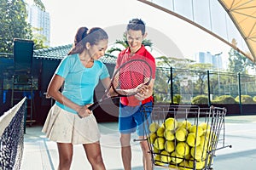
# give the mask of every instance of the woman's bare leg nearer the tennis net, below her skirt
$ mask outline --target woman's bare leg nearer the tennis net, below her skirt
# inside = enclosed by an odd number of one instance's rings
[[[73,144],[57,143],[59,151],[58,170],[69,170],[73,157]]]

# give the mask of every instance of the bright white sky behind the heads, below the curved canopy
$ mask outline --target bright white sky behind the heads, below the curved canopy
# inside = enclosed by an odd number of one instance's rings
[[[50,46],[67,45],[80,26],[99,26],[109,45],[122,39],[132,18],[142,19],[157,55],[193,59],[197,52],[228,56],[230,46],[201,29],[137,0],[42,0],[50,16]]]

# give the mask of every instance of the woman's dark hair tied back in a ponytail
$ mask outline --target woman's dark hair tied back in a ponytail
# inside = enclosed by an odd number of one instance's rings
[[[95,45],[101,40],[108,39],[108,34],[100,27],[93,27],[89,31],[86,27],[80,27],[74,38],[73,48],[68,54],[80,54],[84,51],[87,42],[90,45]]]

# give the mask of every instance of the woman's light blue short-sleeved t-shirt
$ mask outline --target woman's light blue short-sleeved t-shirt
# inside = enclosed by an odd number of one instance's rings
[[[79,54],[68,55],[62,59],[55,74],[65,79],[62,94],[78,105],[93,103],[94,89],[99,79],[109,77],[107,66],[102,61],[95,60],[91,68],[85,68],[79,59]],[[56,105],[66,111],[77,113],[57,101]]]

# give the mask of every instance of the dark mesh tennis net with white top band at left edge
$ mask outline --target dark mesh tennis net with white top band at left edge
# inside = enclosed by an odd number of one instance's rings
[[[0,170],[20,169],[26,98],[0,117]]]

